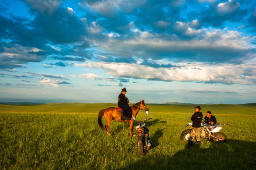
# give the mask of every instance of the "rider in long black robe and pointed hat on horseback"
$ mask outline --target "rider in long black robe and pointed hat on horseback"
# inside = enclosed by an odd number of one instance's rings
[[[122,92],[119,94],[118,96],[118,107],[121,108],[123,110],[123,114],[127,117],[127,118],[131,118],[131,108],[128,105],[128,98],[125,96],[126,93],[126,88],[122,89]]]

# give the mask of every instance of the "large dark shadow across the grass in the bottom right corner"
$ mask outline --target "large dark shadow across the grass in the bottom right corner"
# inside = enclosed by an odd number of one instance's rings
[[[229,139],[225,144],[201,145],[193,143],[172,156],[165,154],[146,155],[121,170],[149,167],[152,170],[210,169],[210,170],[255,170],[256,142]]]

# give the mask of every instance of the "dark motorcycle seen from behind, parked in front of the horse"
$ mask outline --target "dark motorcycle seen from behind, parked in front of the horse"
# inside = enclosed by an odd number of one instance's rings
[[[152,118],[149,118],[152,119]],[[134,136],[138,137],[138,144],[137,147],[139,149],[140,155],[145,155],[146,151],[151,148],[152,141],[149,138],[149,129],[146,127],[146,121],[149,119],[145,119],[142,122],[138,122],[136,126],[136,134]]]

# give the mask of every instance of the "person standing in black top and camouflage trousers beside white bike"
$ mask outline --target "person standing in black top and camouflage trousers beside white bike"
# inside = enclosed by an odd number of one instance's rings
[[[188,146],[192,146],[192,142],[194,138],[196,137],[197,144],[200,146],[201,145],[201,139],[200,139],[200,131],[201,131],[201,122],[202,122],[202,113],[200,112],[201,107],[196,106],[195,107],[195,113],[191,117],[192,122],[192,131],[189,137],[189,144]]]

